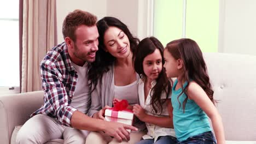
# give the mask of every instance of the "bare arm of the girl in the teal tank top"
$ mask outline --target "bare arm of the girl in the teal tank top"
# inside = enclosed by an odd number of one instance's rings
[[[187,94],[188,98],[194,100],[195,103],[199,105],[206,115],[211,119],[217,143],[225,143],[222,117],[220,117],[217,108],[214,106],[210,98],[208,98],[205,91],[203,91],[203,89],[196,82],[190,82]]]

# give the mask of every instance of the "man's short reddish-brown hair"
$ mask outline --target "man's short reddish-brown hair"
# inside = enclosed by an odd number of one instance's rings
[[[75,30],[80,25],[85,25],[88,27],[96,25],[97,17],[87,11],[76,9],[69,13],[62,25],[63,38],[71,38],[73,41],[76,40]]]

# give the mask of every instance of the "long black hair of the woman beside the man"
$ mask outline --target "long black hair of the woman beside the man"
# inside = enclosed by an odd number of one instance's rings
[[[98,33],[100,34],[100,37],[98,37],[98,51],[96,52],[95,61],[89,65],[88,71],[88,79],[90,81],[89,86],[92,87],[92,84],[94,84],[92,91],[94,91],[98,79],[102,79],[103,73],[106,73],[109,70],[108,67],[112,65],[116,59],[109,52],[104,51],[104,34],[107,29],[109,27],[117,27],[121,29],[121,31],[123,31],[129,39],[132,53],[135,53],[136,46],[139,43],[139,39],[133,37],[127,26],[115,17],[103,17],[96,23],[96,25],[98,28]]]

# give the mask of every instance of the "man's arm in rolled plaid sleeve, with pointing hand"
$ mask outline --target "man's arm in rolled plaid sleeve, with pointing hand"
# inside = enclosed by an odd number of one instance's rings
[[[68,94],[62,83],[62,74],[56,65],[50,61],[41,64],[43,88],[46,93],[46,101],[49,103],[50,111],[55,114],[57,120],[64,125],[82,130],[104,131],[114,136],[118,141],[130,140],[126,129],[137,130],[131,125],[116,122],[107,122],[101,119],[91,118],[84,113],[68,105]]]

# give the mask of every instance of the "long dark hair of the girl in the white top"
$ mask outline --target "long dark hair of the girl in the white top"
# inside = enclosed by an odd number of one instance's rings
[[[137,51],[134,59],[134,67],[135,71],[139,74],[139,76],[147,77],[143,70],[143,61],[144,58],[151,53],[153,53],[156,49],[159,49],[162,57],[162,71],[160,72],[158,78],[156,79],[156,84],[152,88],[150,92],[150,105],[153,107],[153,113],[157,113],[160,110],[162,112],[162,105],[165,104],[168,95],[171,93],[171,85],[172,81],[167,79],[165,68],[163,67],[164,61],[164,46],[160,43],[158,39],[155,37],[149,37],[143,39],[137,46]],[[165,100],[161,100],[162,94],[166,95]]]

